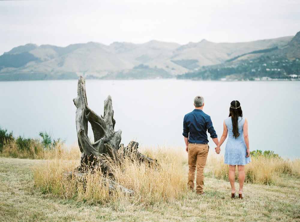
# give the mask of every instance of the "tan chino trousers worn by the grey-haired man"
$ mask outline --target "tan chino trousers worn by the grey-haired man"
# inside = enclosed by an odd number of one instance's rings
[[[191,190],[194,189],[195,170],[197,167],[196,176],[196,192],[198,194],[203,193],[204,186],[204,167],[208,155],[208,144],[188,144],[188,184]]]

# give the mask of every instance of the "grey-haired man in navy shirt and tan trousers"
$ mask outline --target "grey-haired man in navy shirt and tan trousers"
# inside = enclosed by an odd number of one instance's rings
[[[197,166],[196,192],[197,194],[203,194],[203,169],[209,150],[206,130],[210,133],[210,137],[216,145],[218,145],[219,140],[212,126],[210,116],[202,111],[204,98],[196,96],[194,106],[195,109],[184,116],[182,135],[184,136],[186,151],[188,153],[188,186],[190,190],[194,190],[195,170]],[[220,148],[216,147],[215,150],[217,154],[220,153]]]

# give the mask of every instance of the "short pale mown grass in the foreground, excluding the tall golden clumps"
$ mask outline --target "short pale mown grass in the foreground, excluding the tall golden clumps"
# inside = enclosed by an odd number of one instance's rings
[[[210,155],[206,195],[182,190],[176,191],[175,198],[169,195],[146,204],[140,194],[115,204],[55,195],[39,187],[34,178],[36,169],[46,172],[49,169],[41,167],[53,160],[0,157],[0,221],[300,221],[298,176],[280,173],[268,184],[245,183],[244,199],[231,199],[229,182],[216,178],[216,160]],[[186,161],[180,165],[185,178]]]

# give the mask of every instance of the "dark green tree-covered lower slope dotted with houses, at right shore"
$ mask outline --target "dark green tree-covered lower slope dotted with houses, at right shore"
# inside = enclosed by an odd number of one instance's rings
[[[286,56],[260,56],[222,65],[208,66],[198,71],[180,75],[179,79],[193,80],[271,80],[298,79],[299,59],[288,60]]]

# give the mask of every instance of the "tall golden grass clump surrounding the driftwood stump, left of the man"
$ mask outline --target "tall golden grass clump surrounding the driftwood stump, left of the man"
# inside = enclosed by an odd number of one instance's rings
[[[154,150],[145,148],[149,156],[158,160],[160,169],[132,162],[126,158],[121,166],[111,165],[116,182],[134,190],[134,196],[123,195],[120,190],[109,193],[106,178],[98,173],[89,173],[85,184],[76,178],[67,178],[65,171],[73,171],[79,159],[73,160],[61,155],[60,158],[44,160],[33,169],[35,185],[44,193],[52,193],[63,198],[88,201],[101,205],[109,204],[115,209],[122,205],[141,205],[145,207],[174,201],[187,195],[187,158],[179,147]]]

